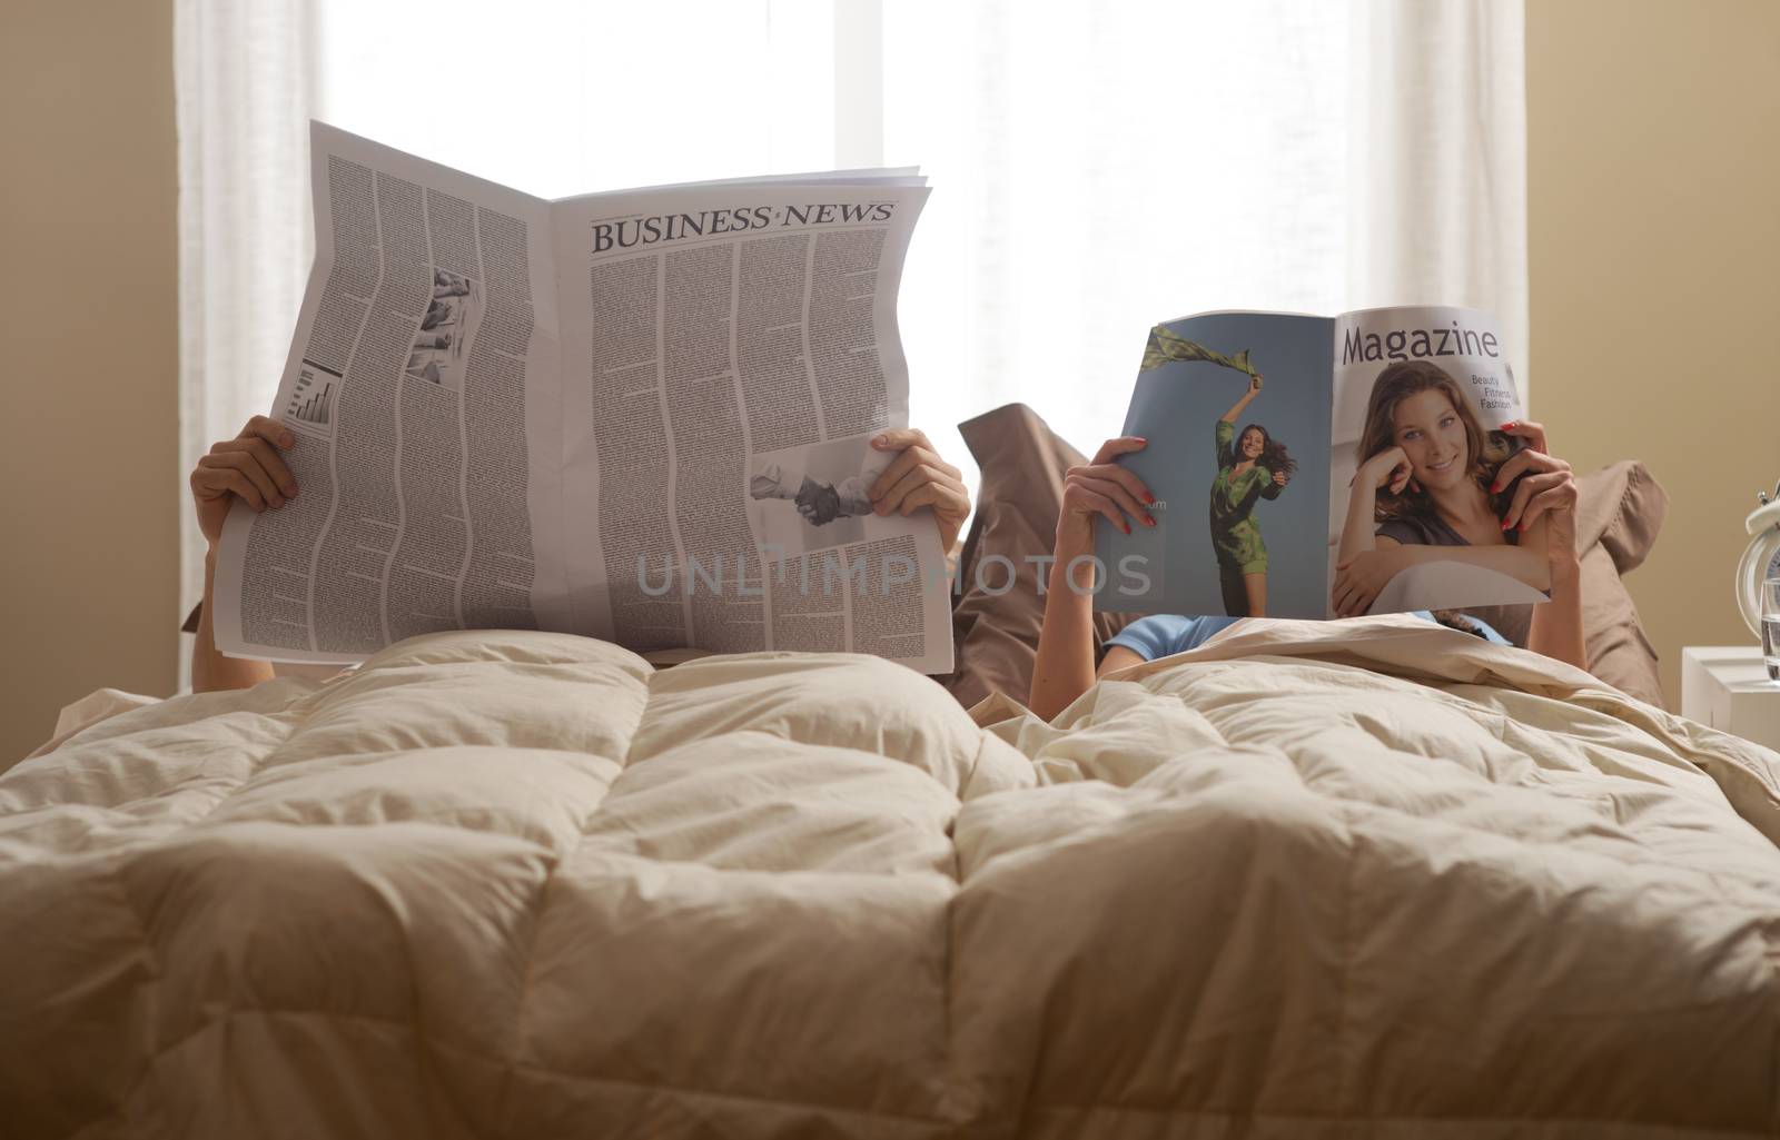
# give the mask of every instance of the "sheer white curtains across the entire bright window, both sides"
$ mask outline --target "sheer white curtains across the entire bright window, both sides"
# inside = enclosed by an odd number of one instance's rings
[[[543,196],[922,164],[911,416],[967,471],[1007,400],[1091,450],[1198,309],[1474,304],[1527,375],[1520,0],[176,4],[187,457],[276,388],[308,116]]]

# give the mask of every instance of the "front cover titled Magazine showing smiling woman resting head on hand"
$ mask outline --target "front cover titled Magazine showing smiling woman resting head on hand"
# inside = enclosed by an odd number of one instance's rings
[[[1392,308],[1335,320],[1328,614],[1545,601],[1540,534],[1502,532],[1492,494],[1524,418],[1490,313]],[[1527,537],[1527,546],[1520,539]]]

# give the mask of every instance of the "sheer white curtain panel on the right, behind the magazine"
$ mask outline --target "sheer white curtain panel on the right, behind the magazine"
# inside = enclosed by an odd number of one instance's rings
[[[899,0],[883,44],[885,158],[936,187],[918,423],[1024,400],[1091,452],[1202,309],[1472,304],[1527,375],[1518,0]]]

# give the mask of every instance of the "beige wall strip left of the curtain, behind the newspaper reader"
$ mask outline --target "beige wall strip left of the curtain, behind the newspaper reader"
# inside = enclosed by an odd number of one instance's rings
[[[0,768],[174,685],[173,5],[0,5]]]

